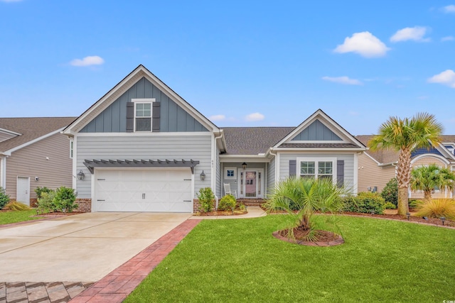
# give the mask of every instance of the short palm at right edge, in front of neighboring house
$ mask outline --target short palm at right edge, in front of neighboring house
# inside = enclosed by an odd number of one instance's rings
[[[439,167],[436,164],[414,167],[411,172],[411,189],[422,190],[424,199],[432,198],[435,187],[441,190],[454,189],[455,174],[448,168]]]

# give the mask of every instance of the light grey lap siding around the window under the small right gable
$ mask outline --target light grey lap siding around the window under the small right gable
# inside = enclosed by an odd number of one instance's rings
[[[280,153],[279,154],[279,178],[285,179],[289,177],[289,160],[296,160],[296,158],[309,157],[309,158],[336,158],[337,160],[344,160],[344,184],[346,187],[351,188],[354,185],[354,155],[352,154],[318,154],[318,153]],[[355,167],[357,168],[357,167]],[[297,174],[299,174],[299,165],[297,165]]]

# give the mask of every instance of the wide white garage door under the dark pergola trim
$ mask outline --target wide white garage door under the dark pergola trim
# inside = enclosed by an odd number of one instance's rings
[[[94,211],[192,212],[191,170],[95,170]]]

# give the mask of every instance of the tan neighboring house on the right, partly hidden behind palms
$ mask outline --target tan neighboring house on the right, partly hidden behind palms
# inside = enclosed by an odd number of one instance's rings
[[[373,136],[355,136],[364,145],[368,144]],[[412,167],[435,163],[441,167],[447,167],[455,171],[455,136],[441,136],[442,143],[437,148],[419,148],[411,155]],[[381,192],[385,184],[395,177],[395,165],[397,165],[399,153],[395,150],[365,150],[358,156],[358,191]],[[422,191],[409,191],[412,199],[422,199]],[[451,198],[454,192],[439,191],[435,189],[432,197]]]

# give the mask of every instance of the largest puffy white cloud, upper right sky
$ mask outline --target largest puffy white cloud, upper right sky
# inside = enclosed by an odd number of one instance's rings
[[[376,38],[372,33],[364,31],[353,33],[352,37],[346,37],[344,43],[338,45],[335,53],[358,53],[363,57],[382,57],[387,53],[387,45]]]

